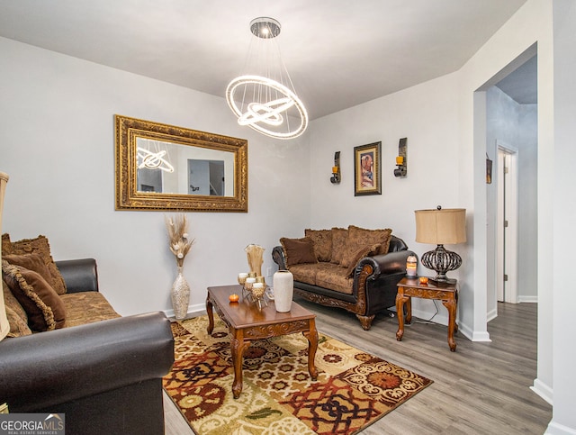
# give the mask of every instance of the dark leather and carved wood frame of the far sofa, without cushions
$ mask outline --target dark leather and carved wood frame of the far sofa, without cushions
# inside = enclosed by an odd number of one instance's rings
[[[343,308],[355,313],[362,328],[370,329],[376,313],[395,315],[389,308],[396,304],[397,284],[406,275],[406,258],[415,255],[403,240],[392,236],[387,254],[365,257],[354,270],[352,294],[311,285],[294,278],[294,294],[316,304]],[[279,269],[287,269],[282,246],[276,246],[272,258]]]

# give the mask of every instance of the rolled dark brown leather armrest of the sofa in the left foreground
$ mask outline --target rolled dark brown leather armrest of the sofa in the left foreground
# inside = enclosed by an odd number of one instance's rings
[[[174,338],[145,313],[0,341],[0,403],[34,412],[165,376]]]

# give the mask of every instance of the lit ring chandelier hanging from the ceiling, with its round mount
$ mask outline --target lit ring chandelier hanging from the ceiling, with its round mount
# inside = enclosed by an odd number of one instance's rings
[[[273,18],[256,18],[250,22],[250,32],[256,38],[250,42],[245,69],[249,67],[254,74],[229,83],[228,105],[240,125],[273,138],[296,138],[308,127],[308,113],[276,44],[280,23]]]

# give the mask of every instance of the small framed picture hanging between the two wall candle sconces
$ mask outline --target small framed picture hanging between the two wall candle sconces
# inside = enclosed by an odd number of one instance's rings
[[[382,142],[354,148],[354,195],[382,195]]]

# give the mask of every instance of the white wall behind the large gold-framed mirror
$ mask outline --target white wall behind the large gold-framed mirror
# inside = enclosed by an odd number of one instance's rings
[[[122,315],[171,310],[175,260],[164,213],[114,211],[113,114],[248,140],[249,213],[189,213],[184,262],[191,310],[208,285],[234,284],[244,248],[272,248],[310,220],[309,143],[238,126],[223,98],[1,39],[0,169],[10,175],[4,228],[45,234],[56,259],[94,257],[103,295]]]

